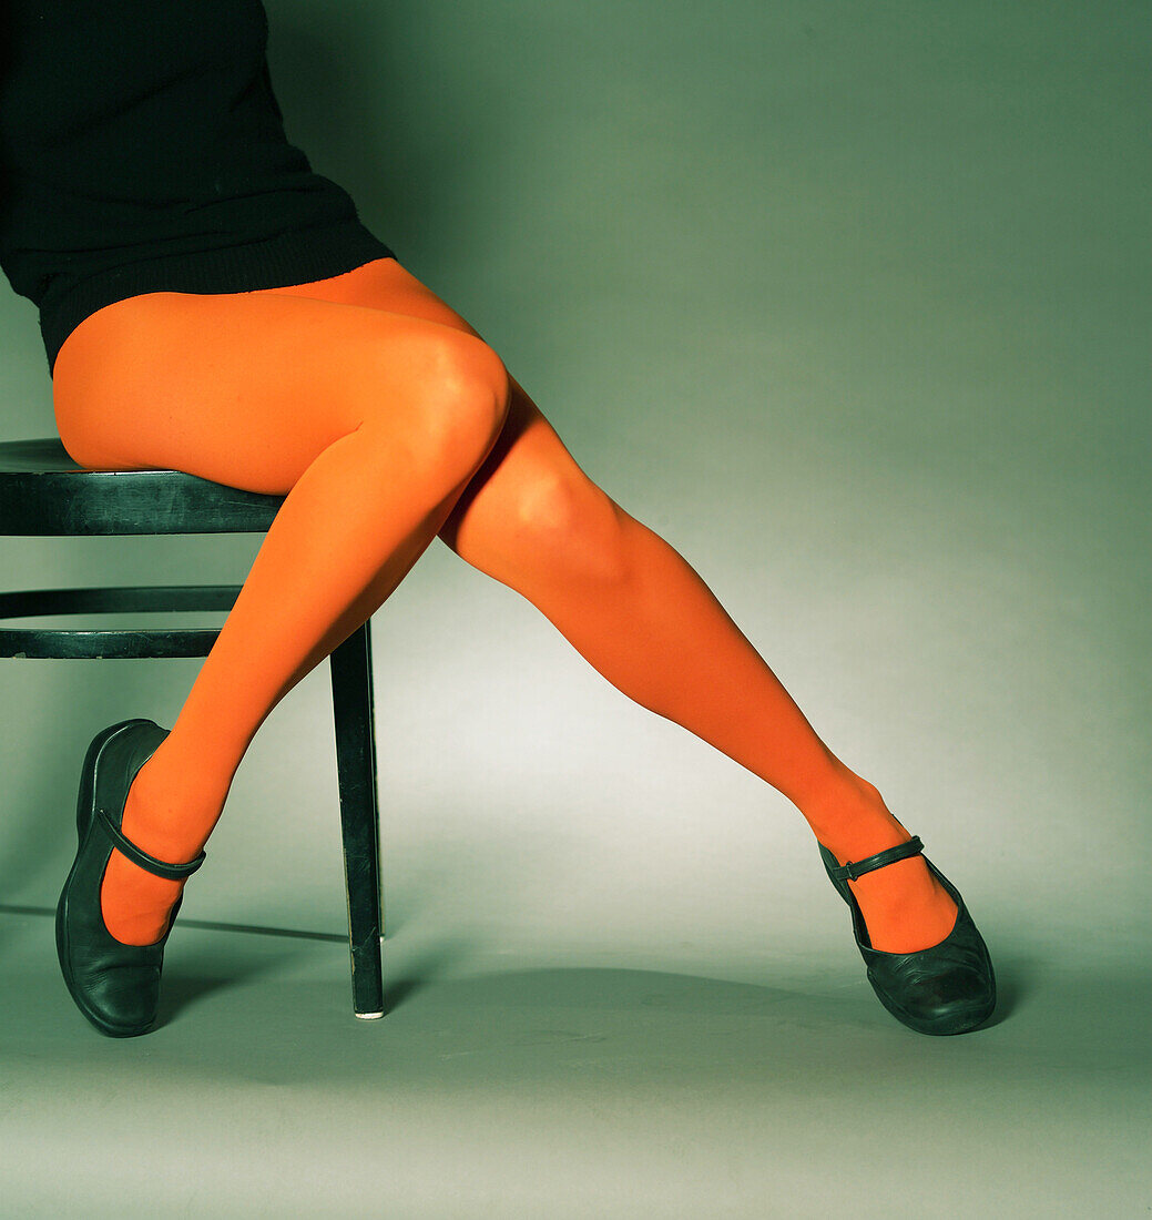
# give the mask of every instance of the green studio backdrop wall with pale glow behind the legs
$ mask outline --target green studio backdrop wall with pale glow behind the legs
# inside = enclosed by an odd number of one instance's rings
[[[1140,1078],[1092,997],[1148,976],[1147,11],[266,7],[289,139],[923,838],[1011,1020],[1068,1004],[1067,1043],[1004,1066],[1075,1096],[1085,1127],[1048,1131],[1045,1190],[1067,1197],[1061,1149],[1107,1148],[1090,1116]],[[5,438],[51,434],[35,311],[10,290],[0,353]],[[0,556],[10,588],[239,583],[260,542],[4,538]],[[523,598],[434,542],[372,630],[386,976],[866,986],[791,804]],[[6,904],[55,905],[93,734],[171,727],[200,664],[5,664]],[[182,920],[344,931],[327,661],[255,739],[207,864]],[[51,921],[34,932],[50,956]],[[312,999],[350,1021],[346,952],[327,952]],[[61,1021],[62,985],[43,1004]],[[1085,1046],[1115,1074],[1104,1096],[1063,1076]]]

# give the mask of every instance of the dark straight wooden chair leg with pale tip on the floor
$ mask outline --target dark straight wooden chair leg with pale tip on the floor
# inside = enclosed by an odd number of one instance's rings
[[[384,903],[380,814],[375,784],[372,636],[364,622],[329,654],[340,777],[340,826],[352,954],[352,1006],[364,1019],[384,1015],[380,965]]]

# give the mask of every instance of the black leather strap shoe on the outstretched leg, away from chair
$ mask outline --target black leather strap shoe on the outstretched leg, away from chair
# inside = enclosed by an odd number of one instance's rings
[[[992,1015],[996,976],[987,946],[973,924],[964,899],[928,856],[924,863],[957,906],[952,931],[939,943],[916,953],[873,949],[856,895],[848,888],[873,869],[883,869],[923,850],[919,836],[866,860],[841,865],[823,843],[817,844],[831,883],[852,910],[856,944],[868,967],[868,981],[880,1003],[917,1033],[967,1033]]]

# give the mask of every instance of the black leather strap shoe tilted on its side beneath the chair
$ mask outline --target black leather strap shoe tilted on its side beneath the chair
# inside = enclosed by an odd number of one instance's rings
[[[56,904],[56,953],[65,983],[84,1016],[113,1038],[150,1033],[155,1027],[165,946],[184,895],[155,944],[117,941],[100,913],[100,884],[112,849],[173,881],[191,876],[204,864],[204,852],[187,864],[166,864],[121,831],[128,788],[167,736],[168,730],[151,720],[124,720],[101,730],[88,747],[76,810],[79,845]]]

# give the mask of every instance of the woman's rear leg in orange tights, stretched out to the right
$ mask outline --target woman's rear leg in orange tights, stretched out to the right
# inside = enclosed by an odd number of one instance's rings
[[[364,299],[477,336],[395,264]],[[784,793],[839,860],[911,837],[820,741],[697,572],[588,478],[514,378],[503,431],[440,537],[532,601],[617,689]],[[913,952],[952,930],[956,904],[919,855],[848,884],[878,949]]]

